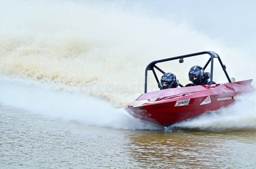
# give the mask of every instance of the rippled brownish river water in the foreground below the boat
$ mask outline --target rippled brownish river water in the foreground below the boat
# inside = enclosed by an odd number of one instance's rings
[[[1,168],[255,168],[256,131],[131,130],[0,109]]]

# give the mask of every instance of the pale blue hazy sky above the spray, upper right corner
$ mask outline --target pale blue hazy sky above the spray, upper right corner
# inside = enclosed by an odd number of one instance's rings
[[[161,0],[148,1],[160,16],[186,22],[229,47],[253,48],[256,43],[256,1]]]

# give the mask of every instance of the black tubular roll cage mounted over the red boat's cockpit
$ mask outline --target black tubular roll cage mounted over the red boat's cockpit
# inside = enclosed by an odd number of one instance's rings
[[[218,58],[219,62],[220,62],[220,65],[226,75],[226,77],[228,78],[228,82],[231,83],[231,80],[228,76],[228,73],[226,71],[226,68],[224,67],[222,61],[220,60],[220,56],[215,53],[215,52],[212,52],[212,51],[204,51],[204,52],[198,52],[198,53],[193,53],[193,54],[188,54],[188,55],[182,55],[182,56],[176,56],[176,57],[170,57],[170,58],[167,58],[167,59],[161,59],[161,60],[156,60],[156,61],[153,61],[151,63],[148,64],[146,70],[145,70],[145,90],[144,92],[147,93],[147,80],[148,80],[148,70],[152,70],[153,71],[153,74],[156,78],[156,82],[159,83],[159,80],[156,76],[156,72],[154,70],[154,68],[156,68],[157,70],[159,70],[160,72],[162,72],[163,74],[165,73],[163,70],[161,70],[159,67],[156,66],[156,63],[160,63],[160,62],[166,62],[166,61],[172,61],[172,60],[175,60],[175,59],[183,59],[185,57],[192,57],[192,56],[197,56],[197,55],[204,55],[204,54],[209,54],[211,57],[209,58],[209,60],[206,62],[206,64],[204,65],[203,69],[205,70],[206,67],[208,66],[208,64],[211,62],[211,77],[210,77],[210,84],[212,85],[212,75],[213,75],[213,59],[214,58]],[[184,87],[182,85],[180,85],[180,87]]]

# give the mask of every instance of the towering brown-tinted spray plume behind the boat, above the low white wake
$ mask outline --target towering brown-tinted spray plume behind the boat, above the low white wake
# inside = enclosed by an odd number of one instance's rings
[[[93,88],[83,93],[123,107],[143,92],[138,86],[143,85],[144,69],[153,60],[213,50],[224,56],[224,63],[228,61],[231,77],[240,69],[232,70],[229,65],[241,63],[239,67],[245,67],[243,60],[228,59],[240,58],[241,51],[226,48],[220,40],[209,39],[184,22],[157,18],[150,10],[143,1],[4,1],[0,5],[0,73],[74,92],[80,92],[80,86]],[[206,60],[200,61],[203,64]],[[162,68],[187,84],[187,71],[198,61],[185,60],[183,69],[177,63],[172,64],[172,70],[168,64]],[[214,80],[227,81],[223,79]]]

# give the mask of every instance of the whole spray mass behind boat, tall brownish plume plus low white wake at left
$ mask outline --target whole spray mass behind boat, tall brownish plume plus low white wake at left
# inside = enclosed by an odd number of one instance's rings
[[[3,1],[0,16],[4,93],[0,101],[10,106],[68,119],[87,118],[96,125],[113,127],[114,121],[128,121],[143,129],[141,122],[131,122],[119,108],[144,91],[144,71],[151,61],[212,50],[226,64],[230,77],[253,78],[248,72],[253,72],[254,57],[228,48],[218,38],[210,39],[185,19],[160,18],[144,1]],[[182,68],[176,62],[160,66],[187,84],[189,68],[207,59],[185,59]],[[214,81],[227,82],[220,66],[214,66]],[[108,107],[107,111],[98,105]],[[97,121],[98,116],[103,119]]]

